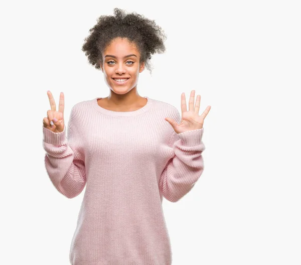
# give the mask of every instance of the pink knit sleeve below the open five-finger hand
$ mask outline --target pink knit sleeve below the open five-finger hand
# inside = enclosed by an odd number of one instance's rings
[[[179,112],[177,119],[175,120],[180,123]],[[202,142],[203,132],[204,128],[181,134],[173,132],[169,146],[172,146],[174,157],[167,163],[159,180],[160,192],[168,201],[179,201],[202,175],[204,171],[202,153],[205,150]]]

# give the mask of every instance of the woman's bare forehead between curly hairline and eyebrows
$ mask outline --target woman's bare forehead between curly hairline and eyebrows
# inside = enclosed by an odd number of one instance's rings
[[[114,39],[104,50],[104,55],[110,54],[122,58],[128,54],[135,54],[139,57],[139,51],[134,43],[130,43],[126,38]]]

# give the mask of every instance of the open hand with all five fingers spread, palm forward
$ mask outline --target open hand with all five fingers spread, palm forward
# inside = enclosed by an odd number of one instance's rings
[[[185,132],[189,130],[203,128],[204,119],[209,113],[211,106],[208,106],[204,110],[202,115],[199,115],[201,96],[200,95],[197,96],[195,106],[194,106],[194,97],[195,97],[195,90],[192,90],[189,99],[189,111],[187,111],[185,93],[184,92],[182,93],[181,95],[182,118],[180,124],[178,124],[175,120],[171,118],[165,118],[165,120],[167,120],[173,126],[177,134],[181,134],[181,132]]]

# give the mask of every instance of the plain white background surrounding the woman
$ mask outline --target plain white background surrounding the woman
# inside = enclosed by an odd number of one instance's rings
[[[42,148],[50,90],[65,119],[109,93],[81,51],[114,8],[156,20],[168,35],[138,92],[176,106],[201,95],[205,170],[177,203],[164,200],[173,265],[301,264],[298,1],[2,2],[1,264],[66,265],[84,191],[52,185]]]

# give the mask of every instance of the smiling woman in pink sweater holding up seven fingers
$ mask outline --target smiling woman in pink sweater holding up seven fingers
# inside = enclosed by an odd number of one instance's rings
[[[114,9],[85,39],[83,51],[101,69],[110,88],[106,98],[75,104],[67,137],[64,94],[59,110],[43,120],[45,166],[56,189],[68,198],[84,187],[70,247],[72,265],[170,265],[172,251],[162,201],[177,202],[200,178],[204,118],[200,96],[181,96],[182,118],[171,104],[141,97],[139,73],[165,35],[154,21]],[[168,121],[168,122],[166,122]]]

